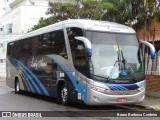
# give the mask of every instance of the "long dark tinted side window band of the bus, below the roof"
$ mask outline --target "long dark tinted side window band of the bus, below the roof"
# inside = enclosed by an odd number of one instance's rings
[[[68,58],[63,30],[9,43],[7,54],[15,58],[49,54]]]

